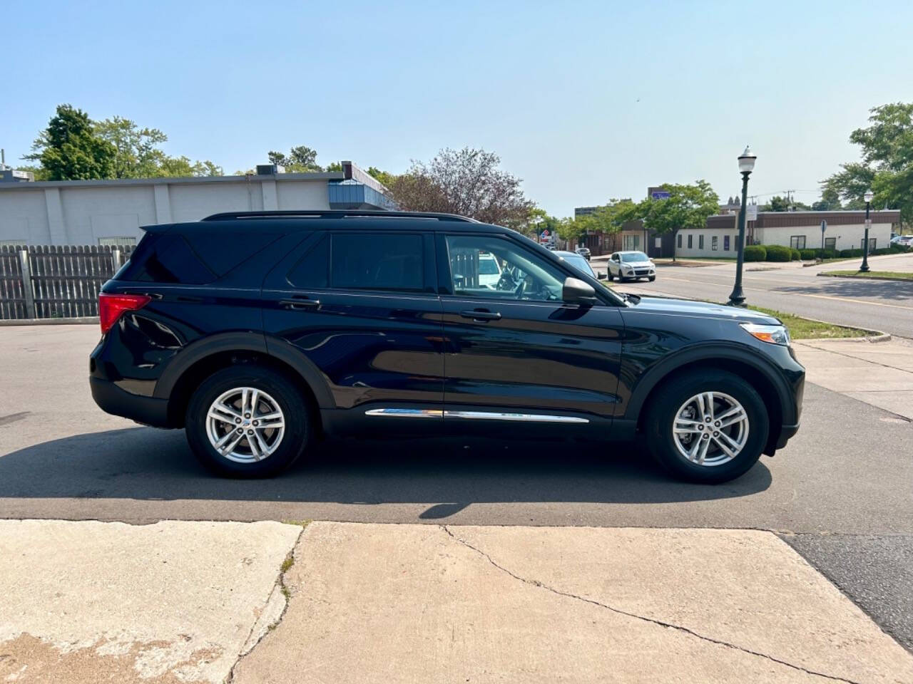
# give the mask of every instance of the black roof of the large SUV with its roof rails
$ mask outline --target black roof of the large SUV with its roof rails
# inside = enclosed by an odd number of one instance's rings
[[[191,231],[223,232],[226,229],[244,228],[250,229],[268,229],[269,227],[279,228],[282,232],[294,230],[310,230],[312,228],[326,228],[328,224],[333,224],[344,228],[371,227],[377,228],[383,225],[385,228],[395,228],[396,230],[426,230],[429,221],[457,223],[459,229],[477,230],[491,228],[500,228],[488,223],[479,223],[475,219],[466,216],[457,216],[453,213],[435,213],[435,212],[382,212],[369,210],[305,210],[305,211],[282,211],[282,212],[224,212],[214,213],[206,216],[205,219],[193,223],[172,223],[162,225],[150,225],[143,227],[147,233],[167,233],[173,226],[180,225],[182,232]],[[456,227],[450,225],[448,227]]]

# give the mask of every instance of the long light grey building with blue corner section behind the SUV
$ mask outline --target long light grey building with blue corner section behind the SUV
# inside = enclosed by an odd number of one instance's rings
[[[342,171],[118,181],[0,182],[0,244],[136,244],[141,226],[218,212],[394,208],[351,161]]]

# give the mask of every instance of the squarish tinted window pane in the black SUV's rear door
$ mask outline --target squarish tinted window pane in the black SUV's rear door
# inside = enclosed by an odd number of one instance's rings
[[[333,233],[333,287],[421,291],[425,280],[420,233]]]

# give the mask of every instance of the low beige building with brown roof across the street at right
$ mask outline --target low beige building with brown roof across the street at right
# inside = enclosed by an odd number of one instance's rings
[[[891,227],[900,212],[871,212],[869,250],[887,247]],[[739,214],[708,218],[707,226],[683,229],[676,237],[676,255],[735,257],[739,240]],[[822,236],[821,223],[827,226]],[[746,244],[782,244],[795,249],[859,249],[866,231],[866,212],[758,212],[757,221],[745,229]]]

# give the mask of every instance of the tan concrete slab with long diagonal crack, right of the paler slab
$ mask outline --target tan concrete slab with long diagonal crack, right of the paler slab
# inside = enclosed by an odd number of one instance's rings
[[[774,534],[311,523],[278,682],[908,682],[913,657]]]

